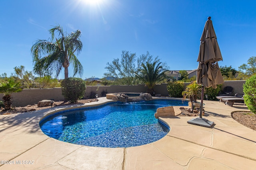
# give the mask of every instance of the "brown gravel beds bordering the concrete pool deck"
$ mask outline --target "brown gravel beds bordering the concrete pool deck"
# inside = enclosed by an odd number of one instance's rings
[[[73,103],[73,104],[85,104],[85,103],[88,103],[88,102],[95,102],[95,101],[96,101],[96,99],[84,99],[84,100],[78,100],[77,103]],[[64,106],[64,105],[71,105],[71,103],[65,102],[65,101],[58,101],[58,102],[54,102],[53,107]],[[34,105],[28,105],[26,107],[15,107],[15,108],[13,108],[12,110],[9,110],[9,111],[3,111],[3,110],[0,109],[0,115],[2,115],[2,114],[24,113],[24,112],[28,112],[28,111],[46,109],[46,108],[50,108],[50,107],[51,106],[37,107],[37,104],[34,104]],[[178,116],[197,116],[196,114],[186,113],[186,111],[182,111],[182,113],[184,113],[184,114],[178,115]],[[252,112],[239,111],[239,112],[232,113],[232,117],[238,123],[241,123],[242,125],[256,131],[256,114],[254,114]]]

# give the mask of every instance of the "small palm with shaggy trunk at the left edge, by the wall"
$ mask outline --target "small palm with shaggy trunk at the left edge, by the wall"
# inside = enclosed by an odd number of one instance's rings
[[[12,93],[22,91],[20,88],[21,84],[15,82],[12,79],[8,79],[5,82],[0,83],[0,93],[3,93],[3,102],[4,102],[4,109],[10,110],[12,107]]]

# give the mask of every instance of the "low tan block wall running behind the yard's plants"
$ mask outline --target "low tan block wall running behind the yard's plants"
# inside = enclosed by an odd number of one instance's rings
[[[242,81],[224,81],[222,88],[225,86],[231,86],[234,88],[234,94],[243,92]],[[190,83],[184,83],[184,88]],[[147,86],[144,84],[140,85],[116,85],[116,86],[86,86],[86,92],[84,94],[84,99],[89,99],[91,92],[98,94],[99,97],[102,97],[102,92],[106,93],[118,93],[118,92],[146,92]],[[157,84],[154,87],[156,94],[161,94],[162,96],[168,96],[167,92],[167,83]],[[0,94],[0,100],[4,95]],[[23,89],[21,92],[12,93],[13,105],[18,106],[27,106],[37,104],[41,100],[50,100],[54,101],[64,100],[62,96],[61,88],[50,88],[50,89]]]

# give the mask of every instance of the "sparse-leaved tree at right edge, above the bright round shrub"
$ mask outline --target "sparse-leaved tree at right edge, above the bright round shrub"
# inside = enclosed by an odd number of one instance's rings
[[[256,74],[256,57],[250,57],[247,64],[242,64],[238,67],[238,71],[240,76],[245,76],[245,79]]]

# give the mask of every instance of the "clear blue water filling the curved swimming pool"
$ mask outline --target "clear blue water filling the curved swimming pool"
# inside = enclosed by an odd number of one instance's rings
[[[134,147],[152,143],[168,133],[154,117],[158,107],[187,106],[179,100],[114,102],[98,107],[62,111],[40,121],[49,137],[94,147]]]

